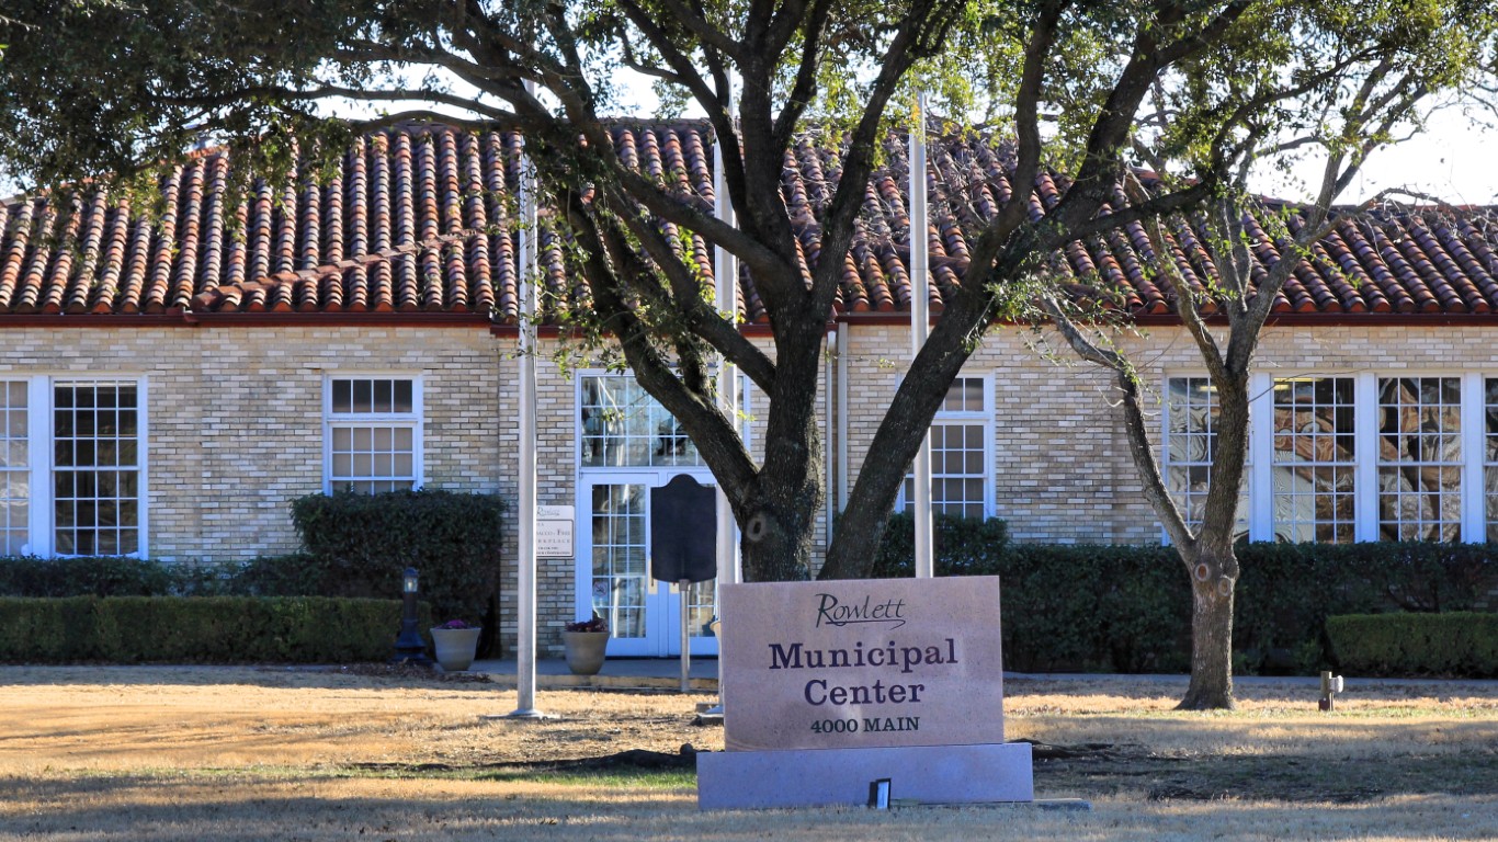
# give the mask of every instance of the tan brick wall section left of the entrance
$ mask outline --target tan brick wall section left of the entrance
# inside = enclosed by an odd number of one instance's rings
[[[322,490],[322,384],[340,372],[419,375],[427,487],[505,491],[496,357],[473,327],[0,331],[0,376],[145,378],[147,551],[163,560],[295,550],[289,503]]]

